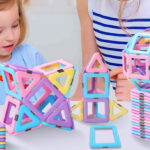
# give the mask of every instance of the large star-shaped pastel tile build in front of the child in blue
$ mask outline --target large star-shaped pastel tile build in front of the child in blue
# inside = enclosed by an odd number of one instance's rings
[[[75,67],[60,59],[34,69],[0,64],[7,98],[1,122],[12,135],[42,125],[74,128],[68,96]]]

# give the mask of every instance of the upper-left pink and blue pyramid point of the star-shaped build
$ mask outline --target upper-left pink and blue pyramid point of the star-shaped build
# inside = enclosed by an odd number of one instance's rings
[[[1,64],[0,70],[6,93],[19,100],[22,100],[34,88],[42,75],[41,72],[34,71],[33,69],[10,64]],[[25,85],[29,79],[30,82]]]

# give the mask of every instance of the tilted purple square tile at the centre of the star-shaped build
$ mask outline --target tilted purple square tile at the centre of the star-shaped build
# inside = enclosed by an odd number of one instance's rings
[[[40,98],[36,99],[34,103],[32,103],[32,97],[40,90],[44,89],[44,93],[42,92],[42,96]],[[41,110],[38,109],[38,107],[43,103],[46,98],[53,93],[54,96],[56,96],[55,102],[50,107],[48,111],[43,113]],[[49,114],[59,105],[62,101],[65,100],[65,97],[48,81],[46,78],[42,78],[41,81],[36,85],[36,87],[28,94],[24,99],[24,104],[32,110],[37,117],[39,117],[42,121],[46,120],[49,116]]]

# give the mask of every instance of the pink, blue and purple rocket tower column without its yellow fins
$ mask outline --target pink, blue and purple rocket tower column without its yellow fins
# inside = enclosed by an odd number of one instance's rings
[[[95,53],[83,72],[84,121],[109,121],[109,73],[99,53]],[[89,107],[91,104],[91,108]],[[99,105],[104,104],[101,112]],[[90,113],[91,111],[91,113]]]

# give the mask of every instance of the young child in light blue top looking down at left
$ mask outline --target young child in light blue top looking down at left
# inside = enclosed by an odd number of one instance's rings
[[[29,44],[22,44],[26,36],[26,19],[22,0],[0,0],[0,62],[35,67],[45,59]],[[0,82],[0,104],[6,93]]]

